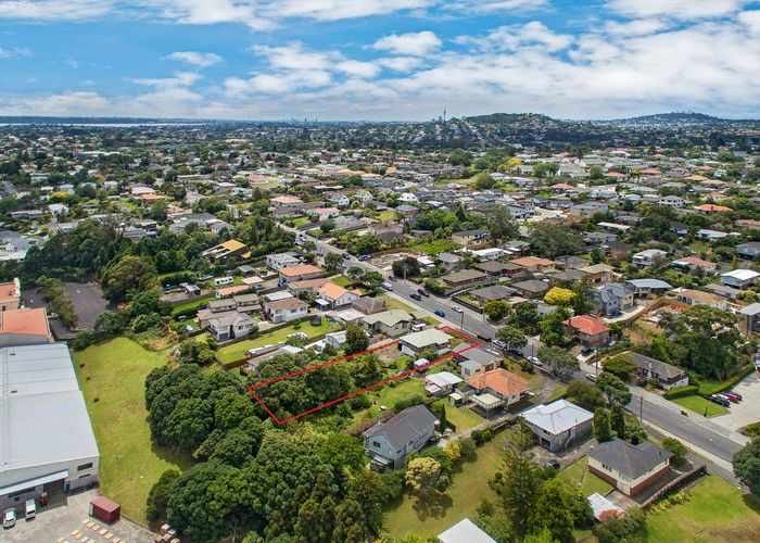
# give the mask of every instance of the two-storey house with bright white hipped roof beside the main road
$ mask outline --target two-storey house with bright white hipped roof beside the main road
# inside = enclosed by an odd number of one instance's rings
[[[594,414],[566,400],[536,405],[520,414],[539,444],[549,451],[560,451],[591,433]]]

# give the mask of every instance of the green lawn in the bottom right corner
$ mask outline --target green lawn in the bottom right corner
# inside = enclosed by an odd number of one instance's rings
[[[647,518],[647,541],[757,541],[760,500],[707,476],[691,500]]]

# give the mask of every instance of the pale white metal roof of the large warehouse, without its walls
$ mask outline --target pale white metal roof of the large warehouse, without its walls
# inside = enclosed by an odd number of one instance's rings
[[[99,456],[65,343],[0,349],[0,487],[17,469]]]

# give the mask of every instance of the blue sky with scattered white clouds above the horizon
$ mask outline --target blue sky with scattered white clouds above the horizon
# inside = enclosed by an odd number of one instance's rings
[[[0,0],[0,115],[760,117],[760,2]]]

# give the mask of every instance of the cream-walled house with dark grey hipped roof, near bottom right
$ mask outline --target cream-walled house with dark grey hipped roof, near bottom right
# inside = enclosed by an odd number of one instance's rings
[[[664,476],[673,453],[650,441],[632,445],[613,438],[588,451],[588,470],[628,496],[638,494]]]

